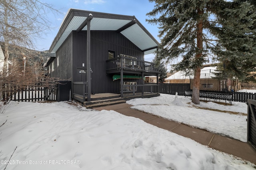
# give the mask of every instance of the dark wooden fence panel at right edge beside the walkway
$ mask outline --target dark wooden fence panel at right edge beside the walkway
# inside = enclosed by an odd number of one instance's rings
[[[248,100],[247,142],[256,149],[256,100]]]

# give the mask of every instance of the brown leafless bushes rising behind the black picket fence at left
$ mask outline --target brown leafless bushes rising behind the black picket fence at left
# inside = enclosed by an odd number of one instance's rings
[[[0,73],[0,88],[3,96],[3,104],[8,104],[16,92],[25,88],[56,88],[59,83],[58,78],[46,76],[46,70],[42,63],[28,63],[25,66],[24,61],[16,59],[8,68],[8,74]]]

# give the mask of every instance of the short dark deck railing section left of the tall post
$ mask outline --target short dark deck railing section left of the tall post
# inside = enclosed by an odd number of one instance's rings
[[[87,97],[87,82],[73,82],[73,98],[84,102]]]

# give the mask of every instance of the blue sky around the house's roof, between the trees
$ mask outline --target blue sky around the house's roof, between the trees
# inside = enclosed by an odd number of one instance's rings
[[[135,16],[153,37],[160,42],[158,38],[158,27],[146,22],[146,18],[148,18],[146,14],[154,8],[154,3],[150,3],[148,0],[41,0],[41,2],[52,4],[54,8],[59,9],[63,15],[49,15],[49,19],[52,22],[51,27],[54,29],[49,30],[46,36],[44,36],[44,39],[36,43],[37,50],[44,51],[50,48],[69,8]],[[145,56],[146,61],[151,61],[152,58],[152,55],[148,57]]]

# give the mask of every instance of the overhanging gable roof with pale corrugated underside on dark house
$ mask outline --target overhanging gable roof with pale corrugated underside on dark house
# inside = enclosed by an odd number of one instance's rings
[[[86,19],[90,14],[93,16],[90,23],[90,30],[117,31],[144,51],[145,55],[156,51],[159,44],[158,41],[156,41],[135,16],[70,9],[52,42],[49,50],[50,53],[56,53],[71,31],[87,30]]]

